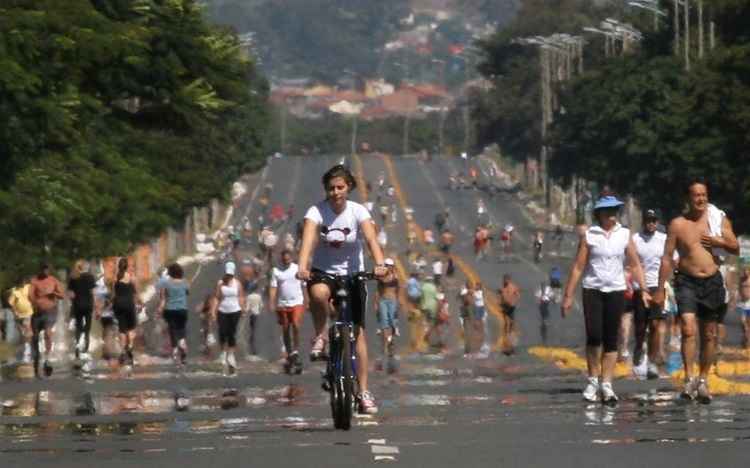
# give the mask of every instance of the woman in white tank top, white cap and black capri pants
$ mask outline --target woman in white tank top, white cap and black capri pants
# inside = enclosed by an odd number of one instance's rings
[[[237,324],[245,310],[245,292],[242,283],[235,278],[236,269],[234,262],[227,262],[224,266],[224,276],[216,284],[211,307],[211,317],[219,328],[219,360],[228,375],[237,372],[237,358],[234,354],[237,347]]]

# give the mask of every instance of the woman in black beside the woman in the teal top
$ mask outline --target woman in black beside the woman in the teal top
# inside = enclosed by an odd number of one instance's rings
[[[133,344],[135,342],[136,308],[142,307],[135,280],[128,271],[128,259],[122,257],[117,262],[117,276],[112,288],[112,311],[115,313],[120,332],[120,365],[134,364]]]

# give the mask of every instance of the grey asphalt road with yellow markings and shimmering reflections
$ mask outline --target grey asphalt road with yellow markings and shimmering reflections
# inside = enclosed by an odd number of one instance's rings
[[[295,219],[301,218],[323,197],[320,177],[339,159],[272,160],[264,174],[274,186],[270,203],[294,204]],[[399,209],[397,222],[386,225],[389,255],[406,264],[405,207],[414,210],[423,228],[447,207],[461,264],[448,281],[453,317],[447,352],[414,352],[410,334],[421,326],[402,314],[398,372],[373,370],[370,377],[380,406],[377,415],[358,417],[351,431],[333,430],[327,395],[320,390],[323,365],[305,360],[302,375],[285,375],[272,314],[259,321],[259,356],[248,360],[243,354],[238,375],[223,377],[221,366],[198,352],[199,324],[191,312],[190,363],[184,372],[158,357],[158,337],[136,355],[139,365],[129,377],[100,360],[85,378],[71,372],[69,362],[58,362],[55,374],[45,380],[25,378],[23,366],[6,363],[0,383],[0,458],[5,466],[703,466],[746,459],[747,396],[717,396],[710,406],[684,404],[676,399],[672,379],[637,381],[623,368],[623,377],[615,383],[621,397],[617,407],[581,401],[580,312],[562,320],[553,307],[548,336],[542,340],[533,297],[551,265],[559,263],[567,270],[570,259],[546,257],[539,265],[531,261],[528,246],[535,227],[516,197],[498,194],[490,199],[481,191],[450,191],[448,174],[459,168],[455,160],[423,163],[369,155],[349,164],[373,187],[382,173],[386,185],[397,189],[389,199]],[[354,198],[375,198],[366,192],[360,189]],[[496,224],[516,226],[513,260],[493,255],[475,261],[471,233],[478,197],[485,198]],[[248,194],[233,222],[245,214],[255,220],[259,206],[258,197]],[[283,233],[293,224],[278,229]],[[243,247],[238,258],[252,252],[254,247]],[[222,266],[212,260],[188,270],[194,277],[194,306],[219,279]],[[490,314],[492,352],[464,356],[455,288],[465,277],[475,276],[489,290],[496,289],[504,273],[512,274],[523,291],[517,352],[499,352],[500,322]],[[374,314],[368,320],[375,357]],[[727,327],[726,345],[732,349],[739,343],[735,317]],[[305,355],[311,330],[306,316]],[[241,333],[244,343],[246,330]],[[746,361],[733,361],[730,354],[725,359],[736,365],[722,377],[742,390],[747,385]],[[190,406],[177,408],[177,395],[190,397]]]

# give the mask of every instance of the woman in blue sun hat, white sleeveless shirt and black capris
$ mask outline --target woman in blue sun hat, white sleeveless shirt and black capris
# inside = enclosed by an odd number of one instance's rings
[[[615,403],[612,376],[617,361],[617,337],[620,318],[625,309],[625,269],[627,260],[633,277],[641,286],[645,304],[651,300],[646,292],[643,270],[630,230],[617,222],[623,203],[604,195],[594,205],[594,219],[578,244],[578,253],[565,285],[562,314],[573,306],[573,294],[583,277],[583,314],[586,323],[586,362],[588,383],[583,391],[587,401]]]

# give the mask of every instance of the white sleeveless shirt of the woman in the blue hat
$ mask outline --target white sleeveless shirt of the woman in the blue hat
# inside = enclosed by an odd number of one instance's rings
[[[589,247],[589,261],[583,274],[583,287],[601,292],[625,291],[625,249],[630,229],[619,223],[607,234],[599,226],[586,230],[584,241]]]

